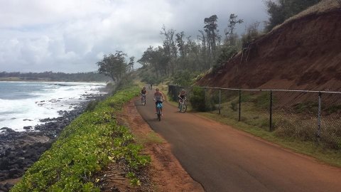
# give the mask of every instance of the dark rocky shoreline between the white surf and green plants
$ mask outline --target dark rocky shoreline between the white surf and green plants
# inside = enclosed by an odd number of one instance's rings
[[[44,124],[24,127],[26,132],[0,128],[0,192],[9,191],[25,171],[36,162],[73,119],[87,108],[92,100],[103,100],[107,95],[83,95],[86,100],[71,111],[60,111],[60,117],[40,119]]]

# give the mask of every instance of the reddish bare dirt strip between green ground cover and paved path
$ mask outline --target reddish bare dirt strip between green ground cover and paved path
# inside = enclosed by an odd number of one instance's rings
[[[139,98],[136,98],[138,100]],[[204,191],[180,165],[171,153],[171,146],[141,117],[132,100],[124,106],[122,118],[131,128],[136,142],[144,145],[145,153],[151,156],[151,183],[153,191]]]

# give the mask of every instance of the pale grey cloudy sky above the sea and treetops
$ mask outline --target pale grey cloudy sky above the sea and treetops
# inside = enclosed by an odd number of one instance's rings
[[[213,14],[221,32],[230,14],[238,33],[268,18],[263,0],[0,0],[0,72],[96,71],[116,50],[138,60],[163,25],[196,38]]]

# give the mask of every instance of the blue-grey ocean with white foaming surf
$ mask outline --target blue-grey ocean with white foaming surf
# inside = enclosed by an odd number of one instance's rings
[[[103,82],[0,82],[0,128],[17,132],[43,124],[40,119],[59,117],[73,110],[87,95],[103,95]]]

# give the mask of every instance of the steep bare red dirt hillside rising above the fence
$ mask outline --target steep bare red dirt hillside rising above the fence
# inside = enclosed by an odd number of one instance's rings
[[[322,1],[252,42],[198,85],[341,91],[341,7]]]

